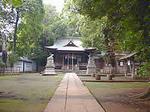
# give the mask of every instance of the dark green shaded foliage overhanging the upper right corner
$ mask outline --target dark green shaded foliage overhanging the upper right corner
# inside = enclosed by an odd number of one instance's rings
[[[138,52],[141,74],[149,71],[150,63],[150,3],[149,0],[71,0],[74,9],[91,19],[107,16],[103,30],[110,51]],[[150,75],[150,74],[148,74]],[[150,89],[149,89],[150,91]],[[148,92],[149,93],[149,92]]]

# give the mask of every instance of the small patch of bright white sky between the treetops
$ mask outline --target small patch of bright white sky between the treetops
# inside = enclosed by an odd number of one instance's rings
[[[43,3],[55,6],[58,12],[61,12],[64,7],[64,0],[43,0]]]

